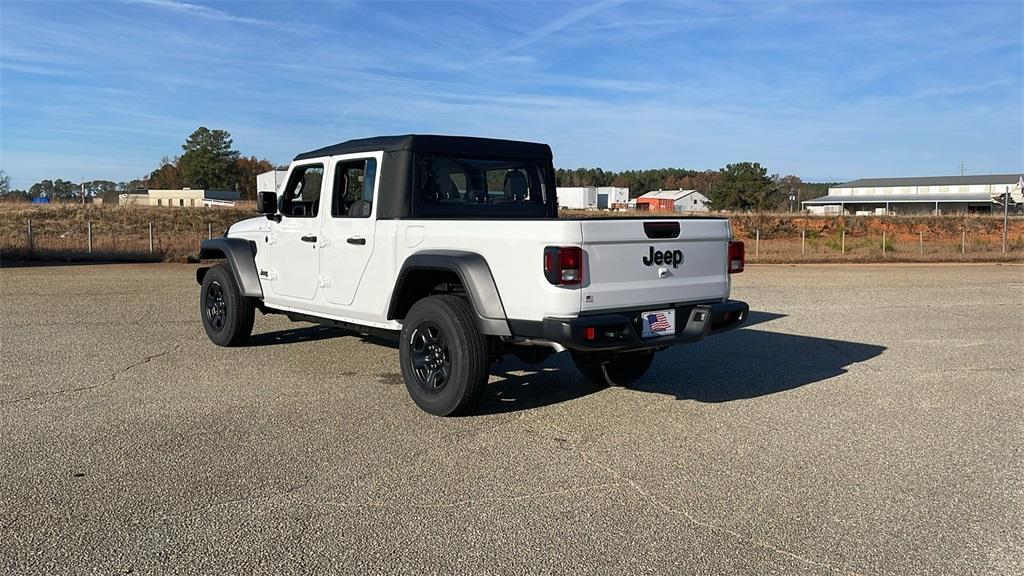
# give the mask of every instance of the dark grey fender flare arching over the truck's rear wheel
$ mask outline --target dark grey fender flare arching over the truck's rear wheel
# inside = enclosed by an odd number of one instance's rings
[[[495,284],[487,260],[480,254],[462,250],[424,250],[406,258],[398,272],[394,290],[391,291],[388,320],[394,320],[398,315],[402,303],[400,301],[402,287],[410,275],[422,270],[454,273],[466,288],[466,295],[476,313],[480,331],[492,336],[512,335],[505,306],[502,305],[498,285]]]

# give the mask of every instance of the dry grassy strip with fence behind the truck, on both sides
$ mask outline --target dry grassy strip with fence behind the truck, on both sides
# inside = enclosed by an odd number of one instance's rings
[[[255,214],[236,208],[0,203],[4,259],[184,261],[199,243]],[[656,217],[563,210],[565,217]],[[809,216],[730,214],[751,262],[1021,261],[1024,218],[1010,219],[1007,252],[995,215]],[[32,241],[29,221],[32,221]],[[89,247],[89,225],[92,245]],[[153,227],[151,248],[150,228]]]

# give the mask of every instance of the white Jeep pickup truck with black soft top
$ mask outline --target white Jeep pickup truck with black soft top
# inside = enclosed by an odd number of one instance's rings
[[[295,157],[263,214],[202,243],[210,339],[243,344],[256,310],[398,337],[431,414],[470,410],[504,355],[568,351],[629,384],[654,353],[742,324],[743,245],[718,217],[559,218],[551,149],[489,138],[354,139]]]

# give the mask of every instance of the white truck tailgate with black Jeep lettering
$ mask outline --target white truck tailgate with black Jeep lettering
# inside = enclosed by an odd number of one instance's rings
[[[674,223],[679,236],[665,237],[673,235]],[[594,219],[582,224],[584,312],[729,296],[728,220]]]

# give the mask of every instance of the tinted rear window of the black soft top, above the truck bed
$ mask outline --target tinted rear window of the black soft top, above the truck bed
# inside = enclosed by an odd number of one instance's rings
[[[544,216],[554,192],[547,171],[532,159],[424,155],[416,160],[415,191],[424,215]]]

